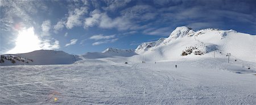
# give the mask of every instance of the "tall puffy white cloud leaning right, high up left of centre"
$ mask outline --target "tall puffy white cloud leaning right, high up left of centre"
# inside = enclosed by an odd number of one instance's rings
[[[81,8],[76,8],[74,11],[69,11],[69,16],[67,23],[65,24],[68,29],[71,29],[75,26],[82,25],[82,15],[87,13],[88,8],[86,7],[81,7]]]

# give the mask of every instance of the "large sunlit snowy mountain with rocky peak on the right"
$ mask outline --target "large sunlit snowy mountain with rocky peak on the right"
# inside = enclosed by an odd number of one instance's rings
[[[168,38],[145,42],[135,52],[147,60],[175,60],[181,58],[232,58],[256,61],[256,36],[235,30],[202,29],[194,31],[177,27]]]

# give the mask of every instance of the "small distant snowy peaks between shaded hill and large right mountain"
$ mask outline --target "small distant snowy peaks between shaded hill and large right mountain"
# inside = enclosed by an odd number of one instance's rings
[[[97,58],[109,58],[113,56],[123,56],[123,57],[129,57],[137,55],[134,50],[126,50],[126,49],[114,49],[114,48],[108,48],[102,52],[87,52],[86,54],[82,55],[86,59],[97,59]]]

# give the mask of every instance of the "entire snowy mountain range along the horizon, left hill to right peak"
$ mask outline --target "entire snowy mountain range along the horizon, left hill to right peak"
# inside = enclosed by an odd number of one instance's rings
[[[256,61],[256,36],[236,30],[177,27],[168,38],[144,42],[135,50],[108,48],[102,52],[70,55],[64,51],[38,50],[25,54],[1,55],[0,65],[72,64],[81,59],[118,58],[147,59],[148,61],[181,58],[223,58],[230,53],[233,58]],[[135,56],[134,56],[135,55]]]

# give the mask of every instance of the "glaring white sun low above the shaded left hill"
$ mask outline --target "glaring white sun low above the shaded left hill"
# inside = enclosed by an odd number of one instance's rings
[[[22,29],[18,32],[18,37],[15,40],[15,47],[7,51],[7,54],[17,54],[40,50],[40,43],[41,41],[34,32],[34,27]]]

